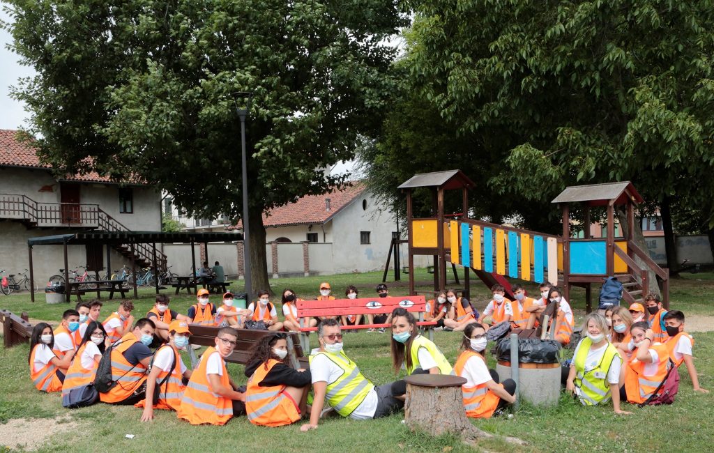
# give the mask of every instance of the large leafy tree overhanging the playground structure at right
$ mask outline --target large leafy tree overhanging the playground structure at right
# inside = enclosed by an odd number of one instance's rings
[[[480,144],[468,159],[503,164],[483,195],[548,210],[565,185],[631,180],[665,224],[683,195],[713,224],[709,1],[408,3],[410,83]]]

